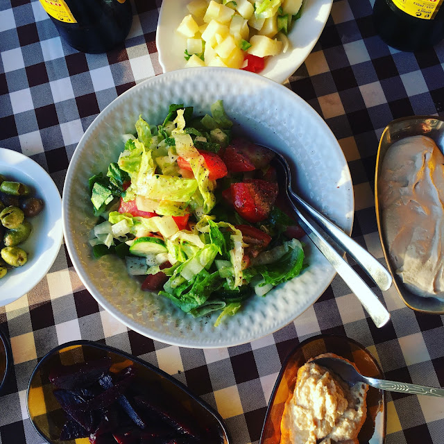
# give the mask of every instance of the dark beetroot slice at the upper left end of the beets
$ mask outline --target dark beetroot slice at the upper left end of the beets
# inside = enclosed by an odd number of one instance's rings
[[[87,361],[72,366],[57,366],[49,373],[49,381],[57,388],[85,388],[94,384],[112,365],[110,357]]]

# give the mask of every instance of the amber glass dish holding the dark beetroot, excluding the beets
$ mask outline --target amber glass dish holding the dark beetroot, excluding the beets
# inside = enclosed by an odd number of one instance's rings
[[[37,432],[50,444],[89,444],[89,438],[60,441],[60,431],[66,416],[53,395],[55,387],[48,379],[51,368],[60,364],[77,364],[107,356],[111,358],[113,364],[122,363],[121,368],[134,364],[137,375],[132,383],[133,389],[137,386],[140,388],[140,394],[148,395],[150,385],[161,387],[172,405],[181,405],[188,416],[196,418],[202,429],[210,431],[214,436],[214,444],[230,444],[228,429],[219,413],[190,393],[186,386],[142,359],[91,341],[72,341],[59,345],[42,358],[31,375],[26,397],[29,418]]]

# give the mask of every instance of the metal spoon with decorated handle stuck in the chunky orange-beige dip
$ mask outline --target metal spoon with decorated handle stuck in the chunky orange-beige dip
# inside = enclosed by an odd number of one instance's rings
[[[436,387],[418,386],[416,384],[407,384],[407,382],[387,381],[386,379],[375,379],[361,375],[352,364],[338,358],[318,358],[313,361],[318,366],[332,370],[333,373],[339,375],[350,386],[357,382],[365,382],[369,386],[380,388],[388,391],[398,391],[400,393],[408,393],[411,395],[427,395],[444,398],[444,389]]]

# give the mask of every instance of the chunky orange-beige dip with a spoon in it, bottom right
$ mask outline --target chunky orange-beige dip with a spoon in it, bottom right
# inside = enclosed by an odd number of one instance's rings
[[[320,357],[343,359],[333,353]],[[298,370],[293,395],[285,403],[280,444],[357,444],[367,391],[367,384],[350,388],[338,375],[308,361]]]

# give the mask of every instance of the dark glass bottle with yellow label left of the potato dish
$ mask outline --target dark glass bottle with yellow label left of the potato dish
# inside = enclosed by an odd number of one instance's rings
[[[130,0],[40,0],[69,46],[104,53],[126,39],[133,21]]]

